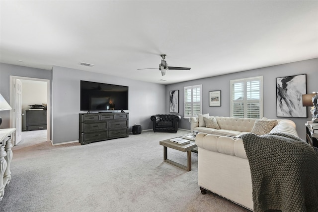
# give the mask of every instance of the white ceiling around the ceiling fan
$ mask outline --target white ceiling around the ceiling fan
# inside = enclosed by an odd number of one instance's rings
[[[318,58],[317,0],[1,0],[0,9],[1,63],[172,84]],[[162,53],[191,70],[137,70],[159,67]]]

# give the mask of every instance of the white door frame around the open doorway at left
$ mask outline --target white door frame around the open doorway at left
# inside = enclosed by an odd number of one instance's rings
[[[20,76],[9,76],[9,96],[10,96],[10,105],[13,105],[14,103],[14,80],[32,80],[32,81],[41,81],[41,82],[46,82],[47,85],[47,116],[46,116],[46,122],[47,122],[47,141],[51,142],[51,122],[50,122],[50,114],[51,114],[51,86],[50,86],[50,80],[48,79],[39,79],[39,78],[31,78],[31,77],[20,77]],[[11,109],[10,110],[10,128],[14,128],[14,112]],[[13,138],[13,142],[15,143],[15,136]]]

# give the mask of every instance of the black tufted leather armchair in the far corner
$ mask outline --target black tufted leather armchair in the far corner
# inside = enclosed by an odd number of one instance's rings
[[[150,118],[153,121],[154,132],[174,132],[179,128],[180,115],[157,114]]]

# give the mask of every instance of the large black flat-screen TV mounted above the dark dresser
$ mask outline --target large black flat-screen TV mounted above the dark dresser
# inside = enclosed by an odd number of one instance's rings
[[[81,80],[80,110],[128,110],[128,86]]]

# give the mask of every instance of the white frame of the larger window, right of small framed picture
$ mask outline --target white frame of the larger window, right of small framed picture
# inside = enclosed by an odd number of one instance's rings
[[[247,97],[247,94],[249,91],[247,91],[247,83],[251,81],[259,81],[259,100],[255,99],[249,99]],[[263,117],[263,76],[257,76],[257,77],[249,77],[249,78],[243,78],[243,79],[237,79],[237,80],[231,80],[230,81],[230,114],[231,117],[234,117],[234,101],[235,101],[235,94],[233,90],[234,84],[242,83],[242,103],[243,103],[243,117],[244,118],[250,118],[250,114],[248,114],[247,105],[248,103],[254,102],[259,103],[259,118]],[[250,93],[249,93],[250,94]],[[239,116],[236,116],[239,117]],[[255,118],[255,117],[253,117]]]

